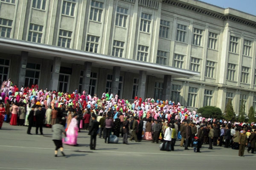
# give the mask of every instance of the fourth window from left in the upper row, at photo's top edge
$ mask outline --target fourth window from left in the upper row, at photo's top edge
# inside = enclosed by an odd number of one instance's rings
[[[90,20],[101,22],[103,3],[92,0],[90,9]]]

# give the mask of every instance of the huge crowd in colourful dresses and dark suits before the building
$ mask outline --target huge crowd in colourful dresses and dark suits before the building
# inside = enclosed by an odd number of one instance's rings
[[[52,127],[55,156],[59,148],[64,155],[62,143],[78,145],[81,130],[88,130],[91,150],[96,149],[97,136],[110,143],[112,134],[121,135],[123,144],[128,144],[130,135],[129,141],[162,143],[160,150],[167,151],[175,150],[177,139],[184,150],[192,147],[195,152],[200,152],[202,144],[209,144],[210,150],[223,145],[238,149],[239,156],[244,156],[245,146],[254,153],[256,142],[256,124],[204,118],[180,102],[149,97],[143,101],[137,96],[131,102],[108,92],[99,98],[85,91],[79,94],[78,89],[69,94],[39,89],[38,85],[19,89],[11,79],[1,85],[0,128],[3,121],[28,126],[30,135],[33,126],[41,135],[43,126]],[[65,126],[64,131],[59,124]],[[65,138],[60,137],[63,132]]]

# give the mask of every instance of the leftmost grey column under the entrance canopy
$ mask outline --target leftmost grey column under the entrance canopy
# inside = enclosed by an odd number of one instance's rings
[[[22,85],[24,86],[25,84],[25,76],[26,76],[26,65],[28,61],[28,55],[29,52],[27,51],[21,51],[20,57],[20,71],[19,71],[19,82],[18,82],[18,87],[20,88]]]

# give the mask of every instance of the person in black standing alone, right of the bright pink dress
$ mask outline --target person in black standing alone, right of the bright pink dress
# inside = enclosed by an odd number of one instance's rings
[[[92,125],[89,129],[89,135],[90,137],[90,150],[95,150],[96,147],[96,136],[98,134],[99,130],[99,123],[96,121],[96,116],[92,116]]]

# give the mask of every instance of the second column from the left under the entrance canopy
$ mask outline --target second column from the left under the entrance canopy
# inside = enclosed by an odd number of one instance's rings
[[[58,79],[61,69],[61,57],[54,57],[52,63],[52,79],[51,79],[51,87],[50,90],[58,91]]]

